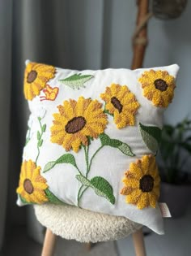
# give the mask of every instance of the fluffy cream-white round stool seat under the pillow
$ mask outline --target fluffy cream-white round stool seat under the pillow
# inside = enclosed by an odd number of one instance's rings
[[[76,206],[36,205],[36,218],[57,236],[80,242],[117,240],[142,228],[124,217],[104,215]]]

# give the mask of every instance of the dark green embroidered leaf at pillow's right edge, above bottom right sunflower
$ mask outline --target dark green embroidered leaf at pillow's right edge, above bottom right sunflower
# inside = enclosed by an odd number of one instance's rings
[[[149,150],[157,152],[162,130],[157,126],[146,126],[141,123],[138,124],[142,135],[142,140]]]

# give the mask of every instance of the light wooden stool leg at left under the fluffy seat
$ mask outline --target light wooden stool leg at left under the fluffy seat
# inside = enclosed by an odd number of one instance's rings
[[[57,236],[49,228],[46,229],[45,241],[41,256],[53,256]]]

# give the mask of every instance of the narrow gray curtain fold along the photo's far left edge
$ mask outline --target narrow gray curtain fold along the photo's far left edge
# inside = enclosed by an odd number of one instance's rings
[[[12,1],[0,0],[0,250],[6,219],[11,103]]]

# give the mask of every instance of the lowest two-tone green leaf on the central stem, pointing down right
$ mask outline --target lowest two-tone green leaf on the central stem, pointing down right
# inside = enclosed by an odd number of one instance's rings
[[[91,180],[87,180],[84,176],[77,175],[76,179],[83,185],[94,189],[95,193],[100,197],[105,197],[113,205],[115,204],[115,197],[113,195],[112,186],[103,177],[96,176]]]

